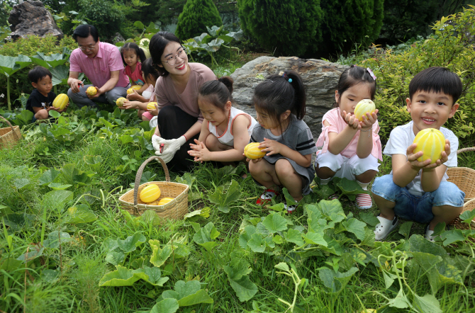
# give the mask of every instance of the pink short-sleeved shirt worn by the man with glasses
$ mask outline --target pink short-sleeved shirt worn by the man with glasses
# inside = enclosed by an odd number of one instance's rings
[[[106,81],[111,79],[111,72],[119,71],[119,79],[116,87],[126,87],[129,84],[128,77],[123,69],[121,52],[118,47],[107,42],[99,42],[99,52],[95,57],[88,57],[79,49],[74,49],[69,57],[69,71],[82,72],[91,83],[101,88]]]

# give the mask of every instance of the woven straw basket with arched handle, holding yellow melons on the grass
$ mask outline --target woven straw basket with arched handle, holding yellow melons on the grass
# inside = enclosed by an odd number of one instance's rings
[[[165,171],[166,181],[149,181],[148,183],[140,184],[140,178],[142,178],[143,169],[153,159],[157,159],[163,166]],[[160,198],[152,203],[143,203],[138,195],[148,185],[157,185],[160,187]],[[168,173],[167,164],[160,159],[160,157],[150,157],[146,159],[137,171],[135,176],[135,186],[133,190],[123,194],[119,201],[122,203],[124,210],[127,210],[133,215],[142,215],[146,210],[154,210],[157,215],[164,219],[181,220],[186,213],[188,213],[188,185],[184,183],[172,183],[170,182],[170,175]],[[157,205],[162,198],[174,198],[165,205]]]

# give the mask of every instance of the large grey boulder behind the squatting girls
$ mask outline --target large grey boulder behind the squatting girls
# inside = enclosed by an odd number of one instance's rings
[[[255,117],[252,95],[257,84],[271,74],[293,70],[300,74],[306,87],[307,107],[303,120],[310,127],[316,140],[322,129],[323,115],[335,103],[338,79],[346,68],[346,65],[325,62],[320,59],[258,57],[231,74],[234,79],[235,107]]]

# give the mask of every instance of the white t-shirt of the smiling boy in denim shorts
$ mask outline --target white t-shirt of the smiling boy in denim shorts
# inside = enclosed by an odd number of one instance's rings
[[[406,155],[408,147],[414,142],[414,131],[413,131],[414,122],[411,120],[406,125],[398,126],[391,130],[391,135],[389,135],[388,143],[384,148],[383,154],[392,156],[393,154],[403,154]],[[444,135],[445,139],[448,139],[450,142],[450,154],[447,162],[444,163],[447,167],[457,166],[457,149],[459,149],[459,140],[457,136],[452,132],[452,130],[447,130],[445,127],[440,127],[440,131]],[[408,191],[412,195],[423,195],[425,192],[420,184],[420,175],[422,169],[419,171],[418,175],[415,176],[414,180],[408,183]],[[391,174],[393,171],[391,171]],[[442,181],[447,181],[447,171],[442,177]]]

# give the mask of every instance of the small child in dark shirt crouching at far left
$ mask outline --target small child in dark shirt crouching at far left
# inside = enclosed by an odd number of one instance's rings
[[[31,92],[28,101],[26,101],[26,109],[33,112],[31,123],[34,123],[35,120],[50,118],[50,110],[55,110],[59,113],[67,110],[69,103],[62,110],[52,106],[52,101],[55,100],[56,94],[52,91],[52,74],[48,69],[34,67],[28,72],[28,79],[30,79],[31,85],[35,88]]]

